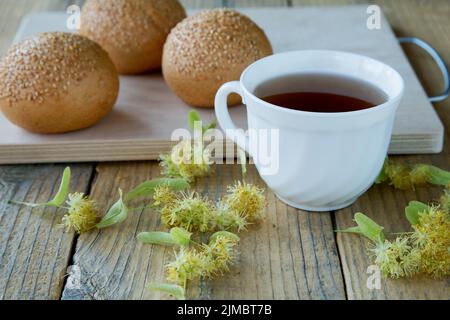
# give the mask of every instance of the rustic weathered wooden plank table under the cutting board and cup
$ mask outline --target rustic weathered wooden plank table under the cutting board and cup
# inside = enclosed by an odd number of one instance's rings
[[[64,10],[75,0],[0,0],[0,53],[11,43],[21,17],[31,11]],[[185,0],[186,7],[302,6],[376,3],[383,7],[399,36],[427,40],[450,62],[450,5],[448,0]],[[437,93],[442,79],[434,63],[420,50],[405,47],[424,87]],[[450,100],[435,105],[450,128]],[[450,169],[450,134],[445,150],[433,156],[405,160],[433,163]],[[45,202],[55,193],[66,164],[0,166],[0,298],[1,299],[158,299],[146,289],[163,281],[163,267],[171,249],[135,241],[141,231],[154,230],[159,221],[151,213],[134,213],[123,225],[82,236],[58,227],[55,210],[19,208],[4,200]],[[119,187],[127,189],[159,174],[156,162],[70,164],[73,188],[84,191],[108,208]],[[220,166],[217,174],[197,188],[219,196],[239,178],[237,165]],[[253,168],[249,179],[262,184]],[[198,299],[448,299],[449,281],[427,279],[382,280],[381,289],[366,287],[366,241],[335,235],[334,229],[352,224],[362,211],[388,231],[408,228],[403,209],[408,201],[435,199],[438,189],[402,192],[373,187],[351,208],[339,212],[306,213],[288,207],[268,192],[267,220],[242,236],[241,255],[232,273],[216,281],[191,286]],[[67,287],[68,266],[81,271],[80,289]]]

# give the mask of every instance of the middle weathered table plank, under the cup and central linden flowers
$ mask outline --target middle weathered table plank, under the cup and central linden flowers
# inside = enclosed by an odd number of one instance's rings
[[[129,190],[158,176],[159,170],[156,163],[101,164],[91,194],[106,210],[115,202],[119,187]],[[195,189],[219,199],[237,179],[239,166],[220,165]],[[263,185],[254,167],[248,181]],[[330,215],[292,209],[271,192],[267,199],[268,217],[242,234],[240,258],[232,272],[216,281],[192,284],[189,297],[345,299]],[[81,287],[67,288],[63,299],[164,298],[146,287],[150,282],[165,282],[164,265],[173,258],[172,249],[135,239],[139,232],[159,230],[164,230],[159,217],[147,210],[130,214],[120,226],[81,235],[74,256],[74,265],[81,270]]]

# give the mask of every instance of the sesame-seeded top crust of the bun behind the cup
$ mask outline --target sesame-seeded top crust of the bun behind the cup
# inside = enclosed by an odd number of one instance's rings
[[[184,19],[172,29],[164,48],[165,64],[193,79],[245,68],[270,54],[272,48],[264,32],[250,18],[231,9],[204,10]]]

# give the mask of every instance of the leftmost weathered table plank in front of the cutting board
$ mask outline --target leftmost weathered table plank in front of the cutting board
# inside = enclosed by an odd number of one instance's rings
[[[75,238],[59,226],[63,213],[5,202],[49,201],[63,170],[63,165],[0,167],[0,299],[58,299],[61,295]],[[92,166],[72,170],[72,188],[86,192]]]

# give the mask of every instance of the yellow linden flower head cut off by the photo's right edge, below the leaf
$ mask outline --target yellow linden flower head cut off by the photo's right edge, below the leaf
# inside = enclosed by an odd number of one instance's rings
[[[450,214],[438,207],[419,213],[413,239],[420,253],[421,272],[436,278],[450,275]]]

